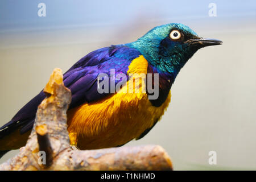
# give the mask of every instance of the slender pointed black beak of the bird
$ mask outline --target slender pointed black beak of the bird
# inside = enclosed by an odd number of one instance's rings
[[[195,46],[198,48],[207,47],[207,46],[217,46],[221,45],[222,41],[218,39],[190,39],[187,41],[191,46]]]

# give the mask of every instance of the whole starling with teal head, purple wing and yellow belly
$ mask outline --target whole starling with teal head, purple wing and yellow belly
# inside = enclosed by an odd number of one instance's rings
[[[100,48],[82,57],[63,75],[72,93],[67,111],[71,146],[81,150],[119,147],[143,138],[170,104],[171,86],[180,69],[200,48],[220,44],[221,40],[199,37],[184,24],[168,23],[134,42]],[[122,79],[113,78],[113,70]],[[101,78],[104,92],[99,89],[101,74],[105,75]],[[139,74],[147,76],[139,79],[146,92],[127,93],[129,81],[135,82]],[[155,93],[148,88],[150,84]],[[120,89],[113,90],[113,85]],[[44,98],[41,91],[0,128],[0,156],[26,144]]]

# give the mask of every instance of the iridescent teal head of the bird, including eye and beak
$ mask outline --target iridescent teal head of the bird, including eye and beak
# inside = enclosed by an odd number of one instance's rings
[[[191,28],[179,23],[158,26],[133,43],[146,60],[160,71],[176,77],[188,59],[200,48],[219,45],[217,39],[200,38]]]

